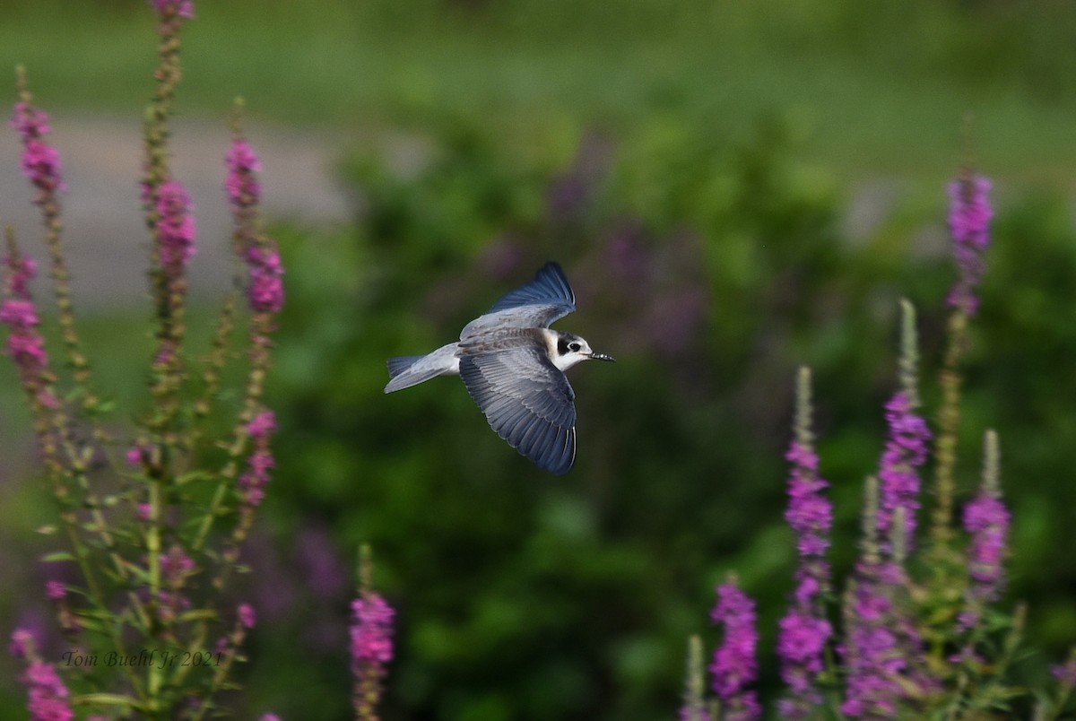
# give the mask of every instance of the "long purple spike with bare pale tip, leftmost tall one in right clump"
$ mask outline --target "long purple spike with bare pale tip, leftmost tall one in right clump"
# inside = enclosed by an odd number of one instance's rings
[[[781,715],[801,719],[821,703],[815,679],[822,673],[825,644],[833,627],[825,618],[822,594],[830,588],[825,560],[833,526],[833,506],[822,495],[829,483],[818,475],[818,454],[811,430],[810,370],[801,368],[796,379],[795,438],[785,458],[792,463],[789,507],[784,520],[796,533],[799,566],[793,604],[780,621],[777,652],[781,678],[791,697],[780,702]]]

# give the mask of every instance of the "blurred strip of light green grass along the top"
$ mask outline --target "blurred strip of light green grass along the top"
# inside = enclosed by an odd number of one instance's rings
[[[138,113],[152,83],[141,0],[26,0],[0,10],[0,61],[56,110]],[[197,3],[184,113],[356,132],[476,118],[526,147],[565,126],[631,135],[675,113],[730,142],[788,114],[840,176],[951,173],[965,114],[995,175],[1067,183],[1076,10],[1062,3],[371,0]],[[11,97],[11,96],[9,96]]]

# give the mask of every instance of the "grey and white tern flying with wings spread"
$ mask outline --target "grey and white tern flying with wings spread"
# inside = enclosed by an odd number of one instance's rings
[[[385,393],[437,376],[459,376],[508,444],[557,476],[576,462],[576,392],[568,368],[583,360],[613,360],[550,324],[576,310],[564,270],[547,263],[529,283],[508,293],[468,323],[459,340],[427,355],[388,359]]]

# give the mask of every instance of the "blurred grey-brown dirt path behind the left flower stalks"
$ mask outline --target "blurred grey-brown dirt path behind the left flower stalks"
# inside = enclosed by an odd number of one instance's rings
[[[49,140],[59,149],[68,192],[62,196],[65,241],[76,308],[105,310],[143,302],[148,232],[142,221],[138,181],[141,125],[109,116],[54,113]],[[330,226],[349,220],[345,189],[334,164],[342,144],[326,136],[246,124],[261,156],[263,213]],[[231,271],[224,156],[231,135],[225,122],[176,118],[172,123],[172,173],[190,193],[198,222],[198,251],[190,264],[192,293],[215,297]],[[44,260],[41,224],[32,190],[22,175],[19,140],[0,128],[0,225],[12,225],[24,250]],[[39,296],[51,295],[39,285]]]

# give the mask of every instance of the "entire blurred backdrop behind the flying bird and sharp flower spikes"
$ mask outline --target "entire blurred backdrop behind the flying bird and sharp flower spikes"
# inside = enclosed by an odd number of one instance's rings
[[[843,578],[896,383],[901,297],[920,313],[933,422],[954,278],[945,187],[969,157],[994,179],[999,214],[966,363],[961,500],[996,428],[1014,510],[1004,603],[1029,603],[1034,649],[1018,678],[1044,678],[1076,642],[1076,5],[196,12],[173,145],[200,227],[193,357],[230,272],[222,183],[237,95],[287,267],[269,382],[279,468],[239,590],[260,619],[239,718],[348,717],[362,542],[399,611],[386,719],[672,718],[686,637],[717,642],[713,586],[732,570],[760,604],[771,698],[795,564],[782,521],[795,370],[815,372]],[[151,353],[137,179],[155,44],[142,0],[0,4],[0,68],[26,65],[63,153],[75,297],[117,424],[147,402],[132,379]],[[13,80],[0,88],[10,107]],[[2,222],[41,256],[14,131],[0,158]],[[619,360],[571,374],[566,478],[498,440],[458,381],[382,394],[386,357],[455,338],[550,258],[579,299],[560,327]],[[31,441],[0,363],[3,634],[48,625],[32,529],[51,508]],[[0,718],[22,718],[17,674],[0,660]]]

